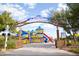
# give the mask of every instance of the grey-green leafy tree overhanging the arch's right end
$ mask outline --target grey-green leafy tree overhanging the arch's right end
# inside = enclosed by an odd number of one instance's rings
[[[51,21],[52,23],[55,23],[56,25],[63,27],[63,29],[67,33],[71,34],[70,24],[68,23],[67,19],[70,16],[68,13],[68,10],[55,11]]]

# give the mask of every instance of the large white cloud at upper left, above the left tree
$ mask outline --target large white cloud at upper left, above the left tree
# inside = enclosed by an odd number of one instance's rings
[[[11,16],[16,20],[21,20],[28,16],[28,12],[23,10],[18,4],[0,4],[0,11],[10,12]]]

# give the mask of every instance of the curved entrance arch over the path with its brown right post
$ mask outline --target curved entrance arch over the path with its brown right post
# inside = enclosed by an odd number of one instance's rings
[[[36,21],[32,21],[32,20],[36,20]],[[38,20],[38,19],[41,19],[41,20]],[[47,19],[49,21],[43,21],[42,19]],[[30,21],[30,22],[29,22]],[[52,20],[52,22],[50,21],[50,18],[46,18],[46,17],[42,17],[40,15],[37,15],[36,17],[33,17],[33,18],[28,18],[27,20],[25,21],[22,21],[22,22],[18,22],[16,27],[22,27],[24,25],[28,25],[28,24],[33,24],[33,23],[44,23],[44,24],[51,24],[51,25],[54,25],[56,26],[56,33],[57,33],[57,40],[59,40],[59,28],[58,27],[61,27],[60,25],[58,25],[57,21],[55,20]]]

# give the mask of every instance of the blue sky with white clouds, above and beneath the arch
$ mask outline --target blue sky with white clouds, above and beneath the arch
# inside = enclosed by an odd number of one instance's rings
[[[0,13],[8,11],[11,13],[11,17],[20,22],[30,17],[36,17],[37,15],[49,18],[51,16],[50,11],[60,11],[62,8],[65,9],[66,7],[66,4],[62,3],[3,3],[0,4]],[[56,27],[51,24],[28,24],[23,26],[22,29],[35,30],[38,26],[44,28],[45,33],[49,36],[53,36],[54,38],[56,37]],[[60,32],[63,32],[62,28],[60,28]]]

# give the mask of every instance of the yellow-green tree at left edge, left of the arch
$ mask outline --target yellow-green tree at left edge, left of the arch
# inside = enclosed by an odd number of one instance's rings
[[[10,30],[14,31],[15,30],[15,24],[17,22],[11,17],[10,13],[8,12],[3,12],[0,15],[0,31],[4,30],[6,25],[10,26]]]

